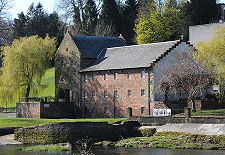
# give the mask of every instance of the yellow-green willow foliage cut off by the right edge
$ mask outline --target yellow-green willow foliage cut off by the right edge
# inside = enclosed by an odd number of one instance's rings
[[[197,42],[196,47],[196,60],[212,70],[218,84],[222,85],[225,79],[225,28],[219,28],[209,41]]]

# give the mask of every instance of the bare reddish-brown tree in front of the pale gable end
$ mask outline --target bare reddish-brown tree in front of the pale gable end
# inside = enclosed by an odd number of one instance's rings
[[[165,100],[170,94],[180,100],[203,99],[207,89],[213,84],[212,72],[205,70],[195,61],[192,50],[185,53],[178,51],[173,57],[176,59],[167,66],[157,66],[161,72],[159,77],[156,77],[158,91],[165,92]]]

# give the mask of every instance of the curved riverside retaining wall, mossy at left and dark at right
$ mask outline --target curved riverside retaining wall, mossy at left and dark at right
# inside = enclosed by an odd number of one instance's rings
[[[44,124],[15,130],[15,139],[29,144],[76,142],[78,139],[119,140],[128,137],[129,130],[138,122],[108,124],[106,122],[63,122]]]

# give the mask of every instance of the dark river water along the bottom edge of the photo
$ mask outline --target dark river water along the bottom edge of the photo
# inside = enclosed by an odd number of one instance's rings
[[[0,155],[72,155],[70,152],[23,152],[18,146],[0,146]],[[93,148],[95,155],[225,155],[225,150],[170,150],[151,148]]]

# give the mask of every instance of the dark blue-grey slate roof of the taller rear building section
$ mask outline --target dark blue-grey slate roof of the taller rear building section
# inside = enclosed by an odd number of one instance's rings
[[[97,58],[104,48],[126,45],[125,41],[119,37],[72,35],[72,38],[80,50],[82,58]]]

